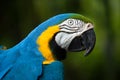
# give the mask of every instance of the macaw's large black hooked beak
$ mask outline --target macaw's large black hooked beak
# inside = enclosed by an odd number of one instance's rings
[[[86,50],[87,56],[93,50],[96,42],[96,36],[93,29],[84,32],[81,36],[75,37],[68,47],[70,52],[79,52]]]

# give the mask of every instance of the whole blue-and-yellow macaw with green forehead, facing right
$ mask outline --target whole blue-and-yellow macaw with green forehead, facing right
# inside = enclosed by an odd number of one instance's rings
[[[38,25],[13,48],[0,49],[0,80],[63,80],[67,52],[95,45],[93,23],[75,13],[54,16]]]

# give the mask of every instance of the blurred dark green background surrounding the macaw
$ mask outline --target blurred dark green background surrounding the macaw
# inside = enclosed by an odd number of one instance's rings
[[[65,80],[120,80],[120,0],[0,0],[0,44],[19,43],[37,25],[74,12],[95,23],[93,52],[68,53]]]

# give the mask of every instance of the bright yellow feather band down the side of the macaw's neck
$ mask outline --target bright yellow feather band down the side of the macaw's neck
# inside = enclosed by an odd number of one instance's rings
[[[43,57],[46,59],[43,64],[50,64],[55,61],[52,52],[49,47],[49,41],[52,39],[55,33],[59,31],[59,26],[48,27],[37,39],[38,50],[42,53]]]

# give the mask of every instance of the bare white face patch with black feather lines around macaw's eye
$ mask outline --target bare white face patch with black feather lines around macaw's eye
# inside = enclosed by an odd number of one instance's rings
[[[68,49],[72,40],[85,31],[92,29],[91,23],[84,23],[78,19],[67,19],[59,24],[60,32],[55,36],[56,43],[64,49]]]

